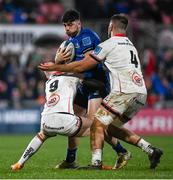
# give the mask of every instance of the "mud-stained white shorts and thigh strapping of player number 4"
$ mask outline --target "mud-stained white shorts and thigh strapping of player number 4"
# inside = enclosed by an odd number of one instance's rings
[[[104,125],[120,127],[145,105],[146,98],[146,94],[140,93],[110,93],[102,102],[107,111],[99,108],[95,117]]]

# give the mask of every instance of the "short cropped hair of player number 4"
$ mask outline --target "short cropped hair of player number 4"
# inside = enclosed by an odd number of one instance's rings
[[[125,14],[115,14],[111,17],[111,21],[115,23],[118,28],[126,30],[128,18]]]

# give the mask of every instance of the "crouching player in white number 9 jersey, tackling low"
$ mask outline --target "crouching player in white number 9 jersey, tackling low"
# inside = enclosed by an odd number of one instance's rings
[[[31,140],[19,161],[11,166],[13,171],[23,168],[24,163],[36,153],[43,142],[59,135],[68,137],[89,135],[92,120],[74,114],[73,101],[79,78],[61,75],[60,72],[47,73],[46,103],[41,114],[40,132]]]

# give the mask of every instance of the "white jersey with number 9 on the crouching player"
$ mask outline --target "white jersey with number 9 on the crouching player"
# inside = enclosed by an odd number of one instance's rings
[[[46,103],[42,115],[56,112],[74,114],[73,100],[79,78],[52,75],[46,82]]]

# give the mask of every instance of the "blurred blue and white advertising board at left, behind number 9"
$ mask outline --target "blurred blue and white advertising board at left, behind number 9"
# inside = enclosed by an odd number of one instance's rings
[[[0,110],[0,134],[36,133],[40,127],[40,110]]]

